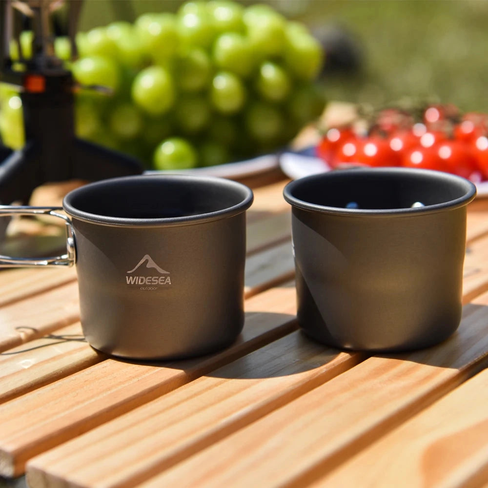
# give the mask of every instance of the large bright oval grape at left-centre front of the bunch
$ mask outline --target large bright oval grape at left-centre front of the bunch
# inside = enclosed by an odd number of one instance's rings
[[[150,115],[162,115],[175,102],[174,83],[162,66],[143,69],[132,83],[132,100]]]

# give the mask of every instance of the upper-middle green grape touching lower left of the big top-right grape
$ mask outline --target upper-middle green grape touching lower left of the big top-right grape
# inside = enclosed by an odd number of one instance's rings
[[[214,42],[212,55],[217,67],[239,76],[246,77],[253,69],[251,44],[236,32],[219,36]]]

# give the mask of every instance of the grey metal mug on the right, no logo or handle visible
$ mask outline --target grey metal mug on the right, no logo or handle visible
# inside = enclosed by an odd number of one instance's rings
[[[474,184],[438,171],[346,169],[288,183],[298,321],[352,350],[437,344],[461,320]]]

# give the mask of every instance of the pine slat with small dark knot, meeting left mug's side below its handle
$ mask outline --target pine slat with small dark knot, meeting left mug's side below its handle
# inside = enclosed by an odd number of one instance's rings
[[[0,351],[42,337],[79,317],[77,282],[5,305],[0,308]]]

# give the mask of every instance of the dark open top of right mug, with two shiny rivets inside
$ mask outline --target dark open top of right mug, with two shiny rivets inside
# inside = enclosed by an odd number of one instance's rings
[[[439,171],[386,168],[347,169],[296,180],[285,188],[285,199],[299,207],[352,211],[422,211],[456,206],[474,198],[475,186]],[[422,203],[412,208],[414,203]],[[351,208],[352,204],[352,208]]]

